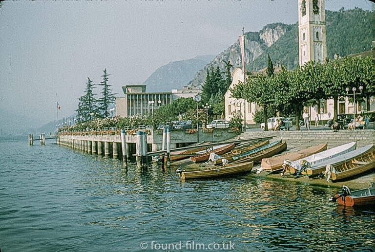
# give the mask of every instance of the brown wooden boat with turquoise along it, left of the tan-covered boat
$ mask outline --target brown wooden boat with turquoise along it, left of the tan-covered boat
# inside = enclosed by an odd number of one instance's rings
[[[249,153],[248,155],[241,154],[239,156],[234,156],[233,163],[240,163],[240,162],[258,162],[261,161],[264,158],[272,157],[273,155],[276,155],[280,152],[283,152],[287,149],[287,142],[277,141],[272,144],[267,144],[263,147],[259,147],[257,149],[254,149]]]

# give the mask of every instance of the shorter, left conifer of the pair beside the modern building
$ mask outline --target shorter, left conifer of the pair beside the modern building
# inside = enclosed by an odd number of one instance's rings
[[[96,105],[97,100],[95,99],[96,93],[93,92],[95,89],[94,84],[92,84],[92,80],[87,77],[87,84],[85,89],[85,94],[78,98],[78,109],[76,109],[79,117],[83,116],[84,120],[92,120],[91,113],[96,114],[98,111],[98,107]]]

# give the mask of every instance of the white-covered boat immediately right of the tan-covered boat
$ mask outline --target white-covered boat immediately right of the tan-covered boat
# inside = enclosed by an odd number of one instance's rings
[[[302,158],[293,162],[288,162],[288,168],[287,170],[294,174],[297,171],[300,171],[303,168],[303,163],[308,162],[310,164],[310,167],[313,167],[314,165],[318,165],[321,162],[324,162],[326,160],[330,160],[334,157],[343,155],[345,153],[348,153],[350,151],[355,150],[357,143],[351,142],[348,144],[342,144],[337,147],[334,147],[332,149],[328,149],[316,154],[313,154],[311,156],[308,156],[306,158]]]

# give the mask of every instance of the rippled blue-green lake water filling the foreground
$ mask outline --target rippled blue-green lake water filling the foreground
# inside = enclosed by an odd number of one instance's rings
[[[337,206],[327,200],[336,188],[248,176],[182,183],[176,167],[125,170],[117,159],[53,143],[0,138],[2,252],[374,246],[373,206]]]

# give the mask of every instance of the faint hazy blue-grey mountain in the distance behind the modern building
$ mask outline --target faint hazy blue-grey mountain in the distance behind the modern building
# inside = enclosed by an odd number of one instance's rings
[[[166,92],[182,89],[215,55],[201,55],[192,59],[169,62],[158,68],[143,83],[147,92]]]

